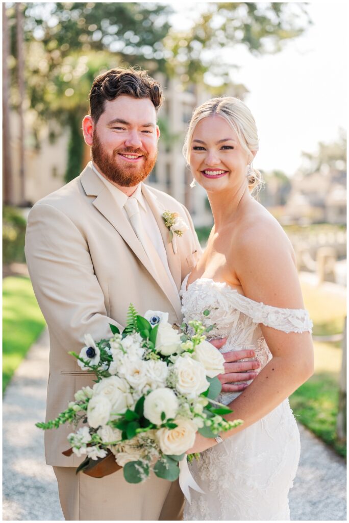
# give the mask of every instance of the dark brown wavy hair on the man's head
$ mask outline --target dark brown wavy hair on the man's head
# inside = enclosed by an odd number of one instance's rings
[[[162,103],[162,88],[147,71],[134,67],[110,69],[95,78],[90,91],[90,115],[95,124],[104,111],[104,101],[115,100],[121,95],[149,98],[156,110]]]

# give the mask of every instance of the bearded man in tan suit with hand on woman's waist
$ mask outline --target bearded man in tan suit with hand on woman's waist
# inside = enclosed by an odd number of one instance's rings
[[[109,323],[122,331],[130,303],[141,314],[162,310],[170,322],[182,321],[181,282],[201,248],[187,209],[142,183],[156,162],[161,102],[160,85],[144,71],[112,69],[98,76],[83,120],[92,162],[29,213],[27,264],[50,333],[46,419],[65,410],[82,386],[93,385],[94,376],[68,355],[79,353],[85,334],[109,337]],[[172,242],[164,211],[178,213],[187,226]],[[226,372],[255,368],[253,361],[242,369],[235,363],[248,356],[243,353],[225,355]],[[242,376],[231,374],[230,381],[253,373]],[[82,458],[62,454],[71,431],[45,432],[46,463],[53,465],[66,520],[182,519],[178,482],[153,476],[133,485],[122,471],[102,479],[76,475]]]

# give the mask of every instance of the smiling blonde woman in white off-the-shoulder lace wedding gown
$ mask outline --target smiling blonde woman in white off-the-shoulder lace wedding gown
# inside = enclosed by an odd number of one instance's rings
[[[184,321],[216,324],[221,349],[254,349],[261,369],[243,392],[223,383],[219,401],[243,424],[215,439],[197,435],[187,520],[288,520],[288,491],[299,461],[299,432],[288,396],[313,372],[311,326],[293,248],[251,196],[258,136],[237,98],[208,100],[190,122],[184,154],[210,200],[214,226],[199,263],[182,283]],[[205,309],[211,311],[207,317]],[[225,363],[226,373],[229,363]]]

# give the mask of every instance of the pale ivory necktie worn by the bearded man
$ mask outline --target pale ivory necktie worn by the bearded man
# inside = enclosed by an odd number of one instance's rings
[[[125,208],[125,211],[127,212],[127,214],[129,215],[133,230],[136,233],[138,240],[143,245],[144,251],[145,251],[146,255],[148,256],[153,268],[155,269],[155,272],[158,275],[158,278],[161,279],[162,285],[165,287],[167,292],[172,295],[173,299],[176,299],[178,301],[179,309],[180,309],[180,299],[179,299],[179,295],[178,295],[178,290],[176,288],[176,284],[174,281],[173,281],[173,283],[170,281],[168,274],[166,272],[166,269],[165,269],[164,265],[162,264],[160,256],[158,255],[156,248],[154,247],[153,243],[150,241],[150,238],[147,235],[147,233],[143,227],[141,213],[139,212],[137,199],[136,198],[127,198],[124,208]]]

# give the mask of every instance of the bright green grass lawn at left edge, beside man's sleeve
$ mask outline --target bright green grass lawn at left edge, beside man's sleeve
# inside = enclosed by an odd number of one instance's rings
[[[3,280],[3,392],[43,331],[45,321],[29,278],[10,276]]]

